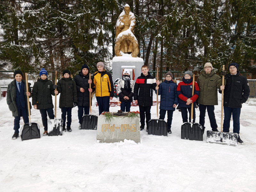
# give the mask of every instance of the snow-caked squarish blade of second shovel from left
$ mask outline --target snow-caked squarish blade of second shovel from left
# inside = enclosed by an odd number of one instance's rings
[[[62,135],[63,119],[48,119],[47,126],[48,136]]]

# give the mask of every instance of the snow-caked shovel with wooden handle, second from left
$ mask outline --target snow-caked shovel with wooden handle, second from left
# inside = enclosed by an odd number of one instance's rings
[[[57,85],[57,71],[55,71],[55,85]],[[57,88],[55,89],[57,91]],[[63,119],[56,119],[57,113],[57,94],[55,94],[54,119],[48,119],[48,136],[62,135]]]

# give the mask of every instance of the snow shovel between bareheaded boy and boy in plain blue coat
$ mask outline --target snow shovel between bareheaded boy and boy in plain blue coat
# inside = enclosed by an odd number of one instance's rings
[[[156,79],[158,80],[158,68],[156,71]],[[156,85],[158,87],[158,85]],[[156,115],[158,118],[158,90],[156,90]],[[164,119],[150,119],[148,121],[148,135],[167,136],[167,123]]]

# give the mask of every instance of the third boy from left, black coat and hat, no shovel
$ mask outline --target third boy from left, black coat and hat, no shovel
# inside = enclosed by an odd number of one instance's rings
[[[67,131],[71,132],[72,108],[77,104],[76,83],[72,80],[69,70],[64,70],[61,79],[58,81],[58,92],[60,92],[59,107],[61,108],[61,119],[63,119],[63,131],[66,131],[66,115],[67,115]]]

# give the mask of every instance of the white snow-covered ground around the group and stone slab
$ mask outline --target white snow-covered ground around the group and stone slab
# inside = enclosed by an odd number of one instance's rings
[[[219,94],[219,106],[215,106],[219,130],[220,99]],[[172,134],[153,136],[144,130],[139,144],[129,140],[96,142],[96,131],[78,130],[77,108],[72,110],[72,132],[12,140],[14,118],[6,98],[2,98],[0,191],[256,191],[255,104],[247,101],[243,105],[240,137],[244,145],[233,147],[206,143],[206,132],[204,141],[180,139],[182,118],[177,110],[173,113]],[[111,112],[118,109],[110,107]],[[137,110],[139,107],[131,108]],[[39,124],[42,134],[39,110],[32,109],[31,113],[31,122]],[[98,115],[98,107],[92,107],[92,114]],[[60,116],[58,108],[57,118]],[[157,118],[156,106],[151,108],[151,118]],[[211,130],[207,115],[205,126],[206,131]]]

